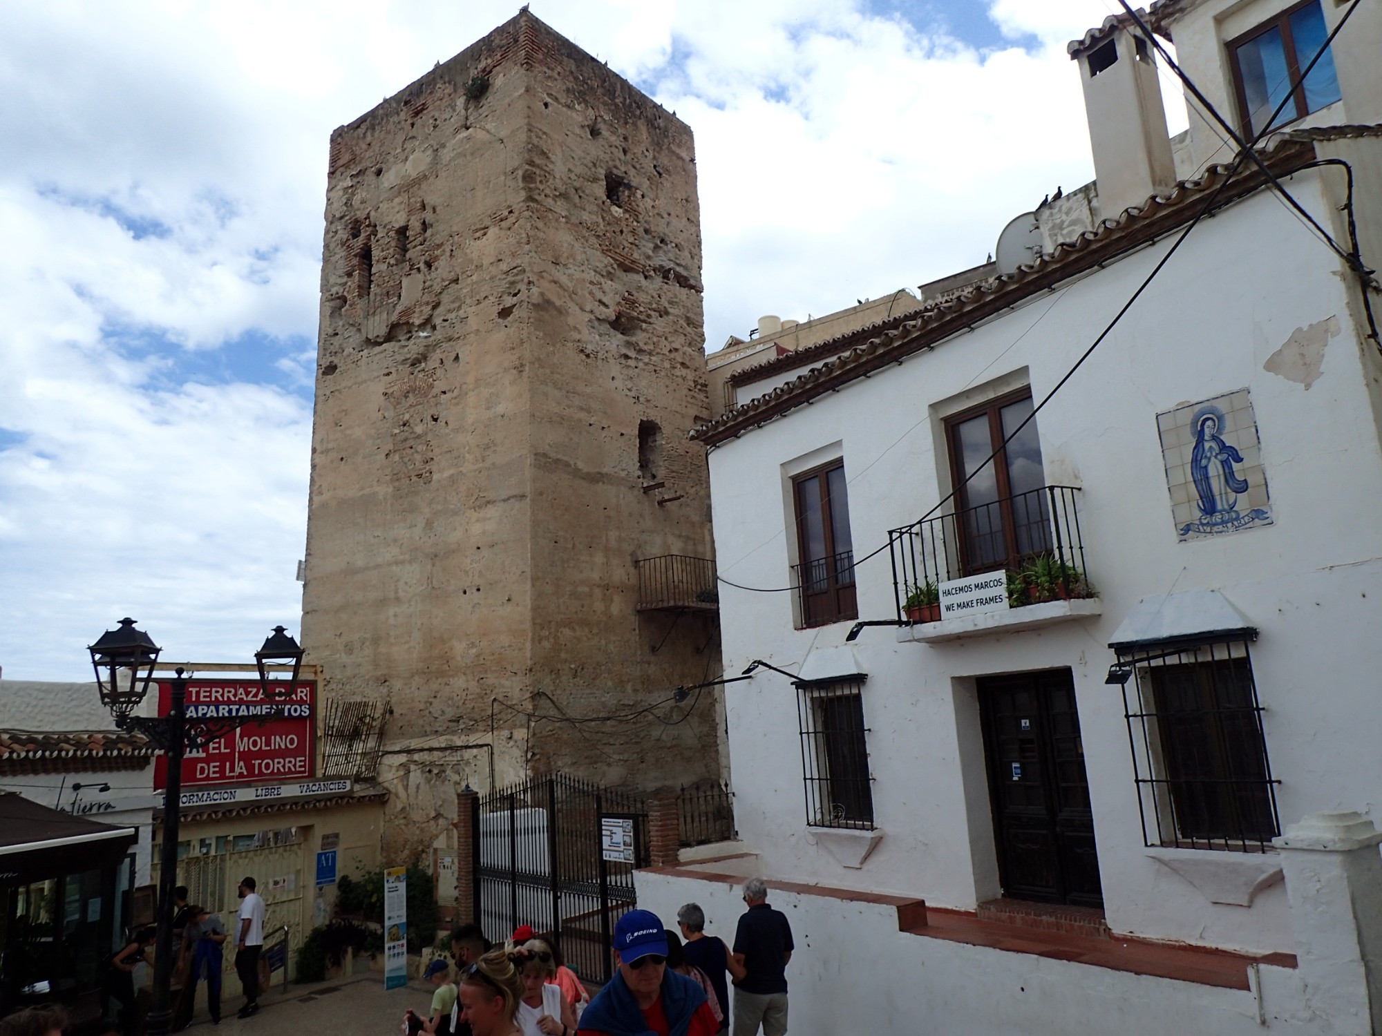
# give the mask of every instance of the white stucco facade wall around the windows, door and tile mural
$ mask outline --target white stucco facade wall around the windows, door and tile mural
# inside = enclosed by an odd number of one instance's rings
[[[1291,180],[1321,220],[1317,173]],[[934,403],[1030,380],[1041,399],[1169,247],[1161,242],[900,366],[851,383],[710,453],[716,554],[726,579],[786,587],[795,532],[784,490],[813,454],[843,456],[860,558],[948,490]],[[898,644],[887,627],[854,645],[868,673],[865,724],[875,819],[862,869],[807,827],[796,692],[761,671],[724,689],[735,812],[763,873],[915,895],[973,909],[998,894],[974,677],[1070,667],[1114,931],[1252,950],[1292,949],[1282,888],[1251,908],[1211,903],[1143,844],[1118,688],[1106,646],[1143,597],[1218,588],[1260,629],[1252,648],[1282,823],[1382,796],[1375,733],[1382,626],[1382,457],[1365,381],[1379,363],[1350,318],[1332,256],[1259,193],[1204,221],[1086,366],[1038,414],[1049,483],[1082,486],[1079,521],[1103,615],[949,644]],[[1307,391],[1263,370],[1299,329],[1334,318]],[[1157,412],[1248,387],[1276,524],[1177,543]],[[995,392],[996,394],[996,392]],[[958,407],[954,407],[958,409]],[[857,572],[860,619],[896,613],[887,553]],[[756,658],[797,671],[850,623],[795,630],[789,593],[721,586],[727,673]],[[1206,859],[1237,856],[1208,854]],[[999,1030],[999,1029],[995,1029]]]

